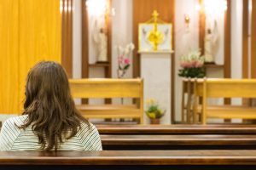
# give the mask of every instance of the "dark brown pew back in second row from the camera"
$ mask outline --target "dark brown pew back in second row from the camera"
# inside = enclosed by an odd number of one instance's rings
[[[256,150],[256,135],[101,135],[103,150]]]

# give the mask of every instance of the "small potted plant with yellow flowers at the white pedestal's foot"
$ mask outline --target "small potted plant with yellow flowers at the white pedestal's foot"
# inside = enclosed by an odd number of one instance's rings
[[[147,99],[147,110],[145,111],[151,124],[160,124],[160,118],[165,115],[166,111],[160,108],[155,99]]]

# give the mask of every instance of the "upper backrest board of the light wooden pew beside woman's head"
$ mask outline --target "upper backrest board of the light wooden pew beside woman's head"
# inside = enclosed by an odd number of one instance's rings
[[[143,98],[142,79],[70,79],[74,98]]]

